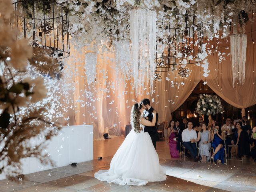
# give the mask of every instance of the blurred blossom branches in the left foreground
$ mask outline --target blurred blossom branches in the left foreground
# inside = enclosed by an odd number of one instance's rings
[[[44,74],[54,78],[59,64],[47,49],[32,48],[27,40],[17,40],[17,32],[10,26],[12,3],[0,3],[0,173],[14,178],[22,171],[22,158],[35,157],[42,164],[53,165],[44,152],[44,143],[61,126],[47,115],[51,103],[43,102],[48,92]],[[39,134],[42,142],[30,146],[30,139]]]

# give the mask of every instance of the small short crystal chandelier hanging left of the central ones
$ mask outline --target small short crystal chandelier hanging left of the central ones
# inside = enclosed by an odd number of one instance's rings
[[[96,64],[97,64],[97,53],[86,52],[85,53],[85,72],[87,76],[87,84],[90,85],[96,79]]]

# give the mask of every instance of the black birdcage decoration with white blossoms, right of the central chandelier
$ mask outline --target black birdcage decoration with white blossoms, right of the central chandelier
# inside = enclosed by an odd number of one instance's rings
[[[173,20],[173,16],[164,16],[162,25],[158,27],[166,36],[158,40],[165,48],[164,52],[156,53],[157,72],[177,70],[184,58],[187,59],[187,64],[196,64],[200,61],[198,53],[202,53],[203,44],[200,18],[195,15],[177,14]],[[177,58],[177,53],[182,54],[182,57]]]

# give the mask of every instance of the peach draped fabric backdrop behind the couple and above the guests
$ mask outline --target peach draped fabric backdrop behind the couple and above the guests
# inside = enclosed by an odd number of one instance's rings
[[[255,70],[253,50],[254,54],[256,53],[249,38],[250,34],[247,35],[244,85],[236,85],[233,88],[230,56],[227,56],[230,52],[230,45],[223,43],[219,45],[219,50],[226,52],[224,55],[226,60],[219,63],[217,54],[208,56],[210,70],[208,77],[202,76],[203,68],[194,64],[188,65],[188,68],[192,70],[188,78],[175,78],[176,71],[174,73],[162,73],[162,81],[155,82],[155,91],[152,96],[150,96],[148,89],[137,98],[131,85],[133,80],[125,80],[124,76],[118,72],[113,50],[108,52],[98,50],[96,82],[88,86],[84,69],[86,55],[84,50],[78,52],[73,47],[71,52],[75,54],[68,59],[63,74],[71,94],[70,102],[63,104],[70,106],[64,120],[66,124],[70,125],[92,124],[94,139],[102,138],[104,132],[118,136],[123,134],[125,125],[130,122],[132,105],[140,102],[142,98],[148,98],[152,107],[159,114],[158,123],[170,121],[171,112],[180,107],[200,80],[207,82],[207,85],[229,104],[237,108],[252,106],[256,104],[256,84],[253,84],[253,80],[256,78],[253,72]],[[255,32],[252,33],[252,38],[256,39]]]

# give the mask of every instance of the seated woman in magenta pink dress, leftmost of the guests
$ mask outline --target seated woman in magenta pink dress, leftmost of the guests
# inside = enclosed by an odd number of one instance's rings
[[[177,130],[174,129],[174,120],[171,120],[168,129],[167,129],[167,134],[168,134],[168,144],[170,148],[170,154],[172,158],[179,158],[179,151],[176,149],[177,148]]]

